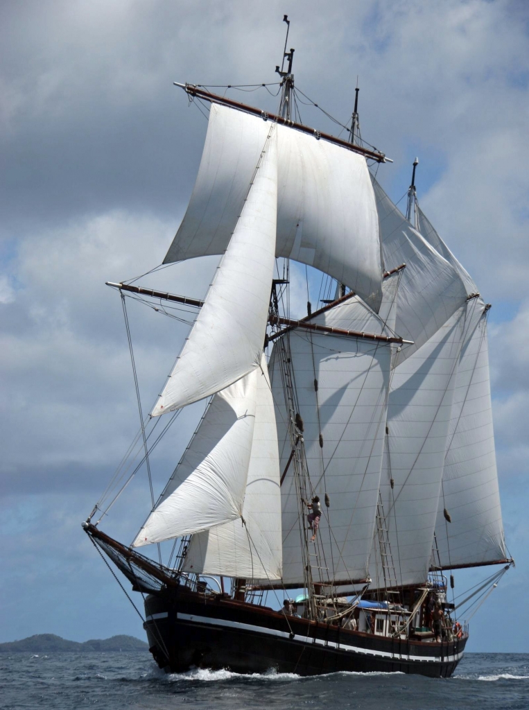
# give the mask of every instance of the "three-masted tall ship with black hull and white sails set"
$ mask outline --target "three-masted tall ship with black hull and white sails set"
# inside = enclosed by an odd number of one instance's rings
[[[406,214],[378,184],[388,158],[361,138],[358,89],[346,137],[302,124],[293,53],[285,41],[277,114],[177,84],[209,119],[163,265],[220,261],[204,300],[109,282],[124,307],[141,427],[83,528],[129,600],[136,606],[129,583],[143,598],[144,614],[136,609],[168,672],[448,677],[471,613],[513,564],[490,305],[422,212],[418,161]],[[304,265],[302,295],[293,262]],[[129,297],[193,314],[148,414]],[[306,314],[291,310],[300,298]],[[156,500],[151,452],[198,401],[202,418]],[[102,521],[139,470],[151,512],[124,544]],[[139,551],[148,545],[153,555]],[[459,591],[457,570],[489,565],[501,567]]]

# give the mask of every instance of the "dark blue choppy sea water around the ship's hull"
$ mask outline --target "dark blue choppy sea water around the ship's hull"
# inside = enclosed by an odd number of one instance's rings
[[[147,652],[0,654],[1,710],[528,710],[529,654],[469,653],[450,679],[166,675]]]

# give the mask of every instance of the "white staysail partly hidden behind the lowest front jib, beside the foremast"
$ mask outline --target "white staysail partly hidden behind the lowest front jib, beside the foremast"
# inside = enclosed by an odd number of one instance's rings
[[[191,538],[182,569],[246,579],[282,575],[281,499],[276,417],[263,356],[256,371],[256,422],[241,520]]]

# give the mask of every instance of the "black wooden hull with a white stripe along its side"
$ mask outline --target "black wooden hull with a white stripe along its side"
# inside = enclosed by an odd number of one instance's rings
[[[450,643],[383,638],[185,589],[148,596],[145,606],[149,648],[167,672],[203,667],[238,673],[378,671],[446,678],[461,660],[468,638]]]

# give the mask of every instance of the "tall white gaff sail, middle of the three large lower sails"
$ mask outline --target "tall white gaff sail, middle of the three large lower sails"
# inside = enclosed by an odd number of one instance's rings
[[[373,542],[373,588],[427,577],[463,332],[460,309],[393,371],[380,486],[389,546]]]

